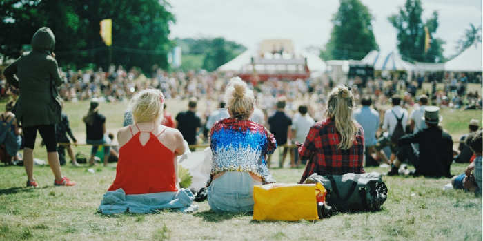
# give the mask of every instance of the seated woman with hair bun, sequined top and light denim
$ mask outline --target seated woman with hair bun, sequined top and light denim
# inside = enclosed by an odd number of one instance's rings
[[[255,98],[241,78],[232,78],[225,94],[230,117],[210,132],[208,204],[213,211],[253,211],[253,186],[275,182],[266,155],[273,154],[277,143],[263,125],[250,121]]]

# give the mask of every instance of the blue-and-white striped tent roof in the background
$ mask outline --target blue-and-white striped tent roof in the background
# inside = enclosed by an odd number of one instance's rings
[[[372,50],[361,60],[362,63],[374,66],[374,70],[413,70],[413,64],[401,59],[396,51],[382,52]]]

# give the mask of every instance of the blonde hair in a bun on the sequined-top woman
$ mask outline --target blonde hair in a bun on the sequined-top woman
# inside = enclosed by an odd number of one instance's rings
[[[230,79],[225,91],[226,105],[235,118],[248,118],[255,105],[253,91],[248,88],[242,78]]]

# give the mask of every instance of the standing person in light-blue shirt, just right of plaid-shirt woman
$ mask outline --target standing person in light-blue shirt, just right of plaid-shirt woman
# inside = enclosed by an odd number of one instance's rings
[[[388,162],[386,155],[381,150],[377,151],[375,148],[377,144],[376,132],[379,129],[380,118],[379,113],[371,108],[372,103],[373,101],[370,97],[364,97],[361,101],[362,108],[354,111],[355,121],[364,129],[366,167],[379,165],[381,158],[384,162]],[[372,154],[377,155],[377,160],[373,158]]]

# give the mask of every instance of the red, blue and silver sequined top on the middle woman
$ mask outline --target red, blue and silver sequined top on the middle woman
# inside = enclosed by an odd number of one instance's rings
[[[212,177],[222,171],[247,171],[262,178],[263,182],[275,182],[265,158],[266,154],[273,154],[277,142],[263,125],[226,118],[215,123],[210,137]]]

